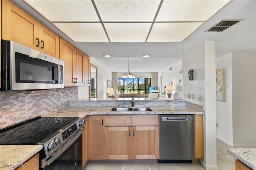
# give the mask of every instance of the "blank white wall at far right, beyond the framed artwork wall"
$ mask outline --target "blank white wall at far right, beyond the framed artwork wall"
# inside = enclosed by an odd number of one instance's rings
[[[256,147],[256,53],[232,53],[233,146]]]

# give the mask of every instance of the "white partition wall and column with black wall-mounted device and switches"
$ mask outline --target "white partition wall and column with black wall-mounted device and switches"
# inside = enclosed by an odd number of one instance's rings
[[[183,98],[204,106],[204,159],[206,170],[217,170],[216,158],[216,66],[215,42],[205,41],[182,55]],[[194,80],[188,80],[188,70],[194,70]],[[188,99],[188,93],[195,94],[195,100]],[[198,94],[202,95],[199,102]]]

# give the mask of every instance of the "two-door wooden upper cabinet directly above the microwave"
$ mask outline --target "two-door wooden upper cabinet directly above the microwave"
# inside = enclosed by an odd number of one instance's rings
[[[2,39],[59,59],[59,36],[10,0],[2,1]]]

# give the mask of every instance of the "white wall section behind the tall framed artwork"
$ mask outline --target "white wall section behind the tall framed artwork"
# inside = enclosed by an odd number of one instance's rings
[[[216,70],[224,69],[224,102],[216,102],[217,138],[233,147],[232,53],[216,57]]]

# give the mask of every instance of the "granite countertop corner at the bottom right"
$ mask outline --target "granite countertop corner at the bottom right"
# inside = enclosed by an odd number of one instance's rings
[[[253,170],[256,170],[256,148],[229,148],[228,152]]]

